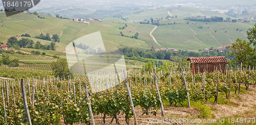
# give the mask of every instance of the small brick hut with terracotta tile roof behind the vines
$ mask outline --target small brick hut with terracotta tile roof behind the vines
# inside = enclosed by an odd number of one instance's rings
[[[228,60],[225,56],[215,57],[189,57],[187,60],[191,63],[191,70],[194,73],[197,72],[213,72],[214,70],[221,70],[226,72],[226,64]]]

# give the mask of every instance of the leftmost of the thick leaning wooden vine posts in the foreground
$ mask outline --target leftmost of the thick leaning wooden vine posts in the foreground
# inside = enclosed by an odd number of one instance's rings
[[[22,86],[22,98],[23,98],[23,105],[24,105],[24,110],[25,110],[25,117],[27,117],[29,125],[32,124],[31,123],[31,118],[30,118],[30,114],[29,114],[29,108],[28,108],[28,103],[27,103],[27,96],[26,96],[26,90],[25,90],[25,82],[24,79],[20,80],[20,84]]]

